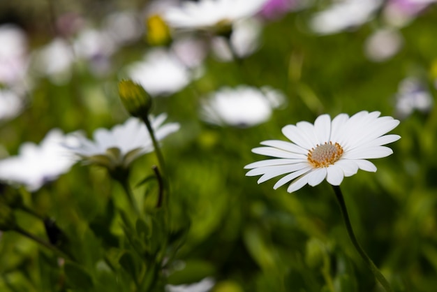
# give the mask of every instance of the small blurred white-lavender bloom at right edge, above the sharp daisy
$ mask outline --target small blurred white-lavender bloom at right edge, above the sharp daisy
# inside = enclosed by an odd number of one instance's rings
[[[414,110],[428,112],[434,100],[417,78],[406,78],[399,83],[396,96],[396,112],[401,118],[408,117]]]

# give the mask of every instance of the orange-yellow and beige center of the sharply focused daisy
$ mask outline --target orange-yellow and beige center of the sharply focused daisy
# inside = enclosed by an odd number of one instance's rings
[[[343,155],[343,148],[339,143],[329,143],[316,145],[316,148],[311,148],[308,152],[308,161],[315,168],[328,167],[338,161]]]

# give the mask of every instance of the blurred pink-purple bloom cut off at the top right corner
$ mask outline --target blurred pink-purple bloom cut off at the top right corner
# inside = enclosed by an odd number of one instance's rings
[[[383,10],[387,24],[404,27],[436,0],[390,0]]]

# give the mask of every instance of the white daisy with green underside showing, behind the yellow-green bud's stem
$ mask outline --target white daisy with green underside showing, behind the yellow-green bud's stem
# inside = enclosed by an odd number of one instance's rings
[[[163,124],[167,115],[161,114],[151,119],[156,140],[162,140],[170,133],[179,130],[178,123]],[[128,168],[139,156],[154,151],[149,132],[140,119],[131,117],[124,124],[111,130],[97,129],[94,141],[80,137],[77,145],[66,145],[86,163],[95,163],[110,170]]]

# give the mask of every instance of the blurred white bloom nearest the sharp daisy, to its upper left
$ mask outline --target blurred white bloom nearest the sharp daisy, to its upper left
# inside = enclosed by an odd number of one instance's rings
[[[285,98],[270,87],[223,87],[202,103],[200,117],[219,126],[248,127],[266,122]]]

